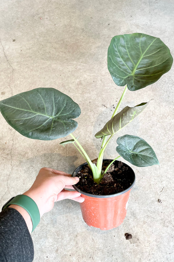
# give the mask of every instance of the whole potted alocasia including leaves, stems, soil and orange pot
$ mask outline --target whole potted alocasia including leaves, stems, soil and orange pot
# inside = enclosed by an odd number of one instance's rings
[[[135,183],[131,167],[117,161],[121,156],[137,167],[159,164],[151,146],[142,138],[124,135],[117,138],[113,160],[104,160],[104,151],[113,136],[148,105],[143,102],[126,106],[120,112],[126,91],[136,91],[155,83],[170,70],[173,58],[168,47],[160,40],[142,33],[119,35],[112,38],[108,48],[108,70],[117,86],[125,86],[115,111],[104,127],[95,134],[102,139],[97,159],[91,161],[79,140],[72,134],[77,128],[81,110],[69,96],[54,88],[36,88],[0,101],[0,110],[6,121],[22,135],[39,140],[53,140],[70,134],[70,140],[83,155],[86,163],[73,176],[79,176],[74,186],[85,201],[81,211],[85,222],[100,229],[120,225],[126,216],[130,190]]]

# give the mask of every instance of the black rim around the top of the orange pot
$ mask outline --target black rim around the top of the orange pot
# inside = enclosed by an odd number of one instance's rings
[[[103,161],[113,161],[112,159],[103,159]],[[119,162],[118,160],[115,160],[114,162]],[[123,162],[124,163],[124,162]],[[84,163],[84,164],[81,164],[81,165],[79,165],[74,171],[73,171],[73,174],[72,174],[72,176],[75,176],[75,174],[76,174],[76,170],[77,169],[81,169],[84,165],[87,165],[88,163],[86,162],[86,163]],[[131,184],[131,186],[130,187],[128,187],[127,189],[125,189],[124,191],[122,191],[122,192],[119,192],[119,193],[115,193],[115,194],[112,194],[112,195],[95,195],[95,194],[90,194],[90,193],[87,193],[87,192],[84,192],[84,191],[82,191],[82,190],[80,190],[78,187],[76,187],[76,185],[73,185],[73,188],[77,191],[77,192],[79,192],[79,193],[81,193],[81,194],[83,194],[83,195],[85,195],[85,196],[88,196],[88,197],[95,197],[95,198],[109,198],[109,197],[116,197],[116,196],[119,196],[119,195],[122,195],[122,194],[124,194],[124,193],[126,193],[126,192],[128,192],[133,186],[134,186],[134,184],[135,184],[135,173],[134,173],[134,171],[133,171],[133,169],[130,167],[130,166],[128,166],[127,164],[125,164],[124,163],[124,165],[125,166],[127,166],[131,171],[132,171],[132,173],[133,173],[133,183]]]

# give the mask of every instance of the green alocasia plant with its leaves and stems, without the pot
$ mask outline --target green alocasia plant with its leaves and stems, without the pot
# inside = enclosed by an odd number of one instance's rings
[[[112,38],[108,48],[108,70],[117,86],[126,86],[112,117],[95,134],[96,138],[102,139],[97,165],[91,162],[72,134],[78,125],[73,119],[81,111],[69,96],[54,88],[36,88],[0,101],[0,110],[6,121],[23,136],[53,140],[70,134],[72,139],[60,144],[73,143],[88,162],[94,181],[100,183],[108,167],[120,156],[138,167],[159,164],[155,152],[144,139],[126,134],[117,138],[119,156],[102,171],[104,151],[112,137],[148,105],[148,102],[143,102],[135,107],[126,106],[118,113],[126,91],[136,91],[155,83],[170,70],[172,63],[170,51],[160,38],[142,33]]]

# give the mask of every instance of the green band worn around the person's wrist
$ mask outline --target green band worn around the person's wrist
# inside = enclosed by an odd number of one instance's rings
[[[39,208],[37,207],[37,204],[34,200],[26,195],[18,195],[14,197],[6,206],[4,206],[3,209],[10,205],[18,205],[24,208],[31,217],[33,225],[32,231],[37,227],[40,222],[40,213]]]

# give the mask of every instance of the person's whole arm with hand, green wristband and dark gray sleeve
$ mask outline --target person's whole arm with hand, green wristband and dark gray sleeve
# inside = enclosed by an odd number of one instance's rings
[[[30,233],[41,216],[53,208],[55,201],[67,198],[80,203],[84,201],[79,192],[64,190],[72,189],[78,181],[79,178],[63,171],[42,168],[28,191],[13,197],[3,206],[0,213],[0,261],[33,260]]]

